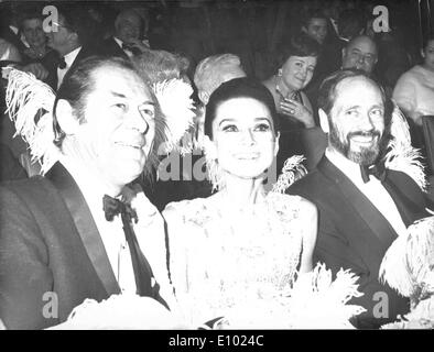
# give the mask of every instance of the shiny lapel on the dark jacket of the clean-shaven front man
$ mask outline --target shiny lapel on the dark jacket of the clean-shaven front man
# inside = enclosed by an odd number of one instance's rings
[[[46,177],[61,193],[68,208],[77,232],[83,241],[86,252],[99,276],[108,296],[119,294],[120,288],[116,280],[101,237],[91,217],[90,210],[77,184],[69,173],[57,163],[47,173]]]

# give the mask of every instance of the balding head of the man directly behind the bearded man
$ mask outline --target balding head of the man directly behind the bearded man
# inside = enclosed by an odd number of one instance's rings
[[[367,35],[354,37],[343,48],[343,68],[357,68],[371,74],[377,59],[377,45]]]

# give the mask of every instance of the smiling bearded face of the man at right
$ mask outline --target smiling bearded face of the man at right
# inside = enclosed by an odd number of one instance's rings
[[[332,147],[360,165],[371,165],[377,160],[384,133],[384,102],[371,80],[341,80],[328,121]]]

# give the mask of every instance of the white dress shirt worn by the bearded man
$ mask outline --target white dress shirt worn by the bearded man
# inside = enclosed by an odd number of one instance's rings
[[[389,221],[398,235],[405,233],[405,224],[392,197],[377,177],[369,175],[369,182],[365,184],[361,178],[359,164],[349,161],[343,154],[328,147],[325,155],[371,201],[378,211]]]

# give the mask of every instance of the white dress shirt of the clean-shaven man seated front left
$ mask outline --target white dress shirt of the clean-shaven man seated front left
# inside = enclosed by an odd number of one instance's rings
[[[102,209],[102,197],[106,193],[101,188],[101,183],[96,180],[93,174],[76,163],[74,158],[63,154],[59,155],[59,162],[77,183],[90,209],[121,293],[134,294],[137,290],[134,272],[120,216],[116,216],[112,221],[106,220]],[[143,193],[135,196],[131,201],[131,207],[137,211],[139,218],[139,222],[133,224],[133,230],[140,249],[151,265],[156,282],[160,284],[161,296],[170,304],[172,288],[169,283],[165,264],[166,250],[163,219]],[[152,280],[152,286],[155,279]]]

